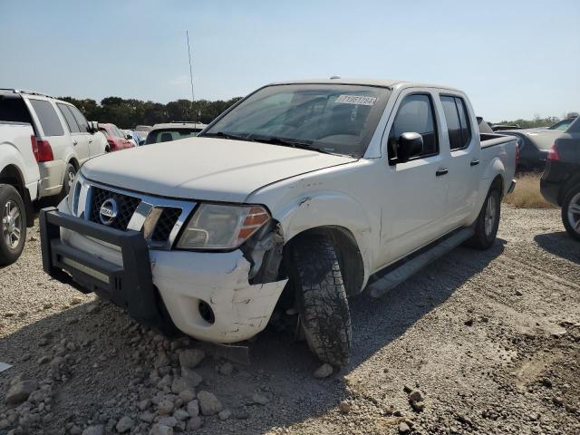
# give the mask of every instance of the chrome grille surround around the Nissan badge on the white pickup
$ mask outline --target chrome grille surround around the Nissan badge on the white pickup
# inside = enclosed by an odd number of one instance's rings
[[[82,208],[84,212],[84,219],[86,220],[89,220],[91,214],[93,187],[140,199],[140,204],[137,206],[137,209],[133,213],[127,228],[133,229],[135,231],[142,230],[143,236],[147,240],[147,244],[149,245],[150,249],[169,251],[169,249],[171,249],[175,243],[176,238],[178,237],[179,230],[185,225],[187,219],[191,215],[191,212],[198,205],[198,203],[195,201],[154,197],[132,190],[113,188],[106,184],[98,183],[89,179],[83,178],[82,181],[83,183],[81,194],[79,195],[79,209]],[[82,201],[84,201],[84,203]],[[157,226],[163,208],[180,208],[181,214],[179,215],[178,221],[171,229],[168,240],[165,242],[157,242],[151,240],[151,237],[153,236],[153,232]],[[95,241],[102,243],[99,240]],[[102,243],[102,245],[104,244]]]

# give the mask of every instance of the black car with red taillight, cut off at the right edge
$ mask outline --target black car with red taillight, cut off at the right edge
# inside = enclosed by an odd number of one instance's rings
[[[580,240],[580,118],[549,150],[540,190],[547,201],[562,208],[566,231]]]

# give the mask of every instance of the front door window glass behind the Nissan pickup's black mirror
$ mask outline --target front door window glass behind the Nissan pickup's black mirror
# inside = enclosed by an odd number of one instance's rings
[[[419,133],[423,137],[423,152],[418,156],[433,156],[439,153],[436,121],[430,95],[414,93],[404,98],[389,132],[389,160],[397,157],[397,141],[402,133]]]

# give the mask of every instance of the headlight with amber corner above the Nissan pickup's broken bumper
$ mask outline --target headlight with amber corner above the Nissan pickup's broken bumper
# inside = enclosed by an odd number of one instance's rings
[[[233,249],[270,218],[259,206],[201,204],[179,238],[181,249]]]

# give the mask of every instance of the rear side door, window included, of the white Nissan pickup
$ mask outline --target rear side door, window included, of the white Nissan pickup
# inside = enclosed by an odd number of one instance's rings
[[[444,139],[449,143],[447,229],[468,225],[475,207],[482,165],[479,163],[478,129],[462,95],[440,94],[442,118],[447,125]]]

